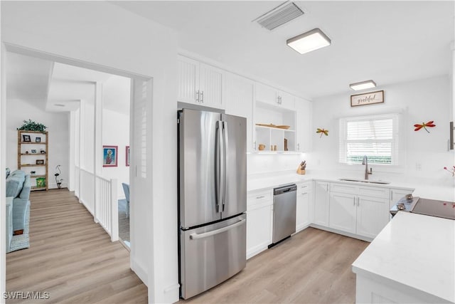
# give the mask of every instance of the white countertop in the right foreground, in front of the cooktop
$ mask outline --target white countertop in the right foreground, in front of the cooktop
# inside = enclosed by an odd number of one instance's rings
[[[455,221],[398,212],[354,261],[353,272],[455,302]]]

